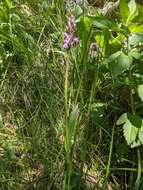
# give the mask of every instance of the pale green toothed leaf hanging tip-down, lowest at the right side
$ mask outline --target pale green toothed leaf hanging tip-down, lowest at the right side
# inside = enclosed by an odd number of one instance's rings
[[[124,137],[128,145],[131,145],[137,138],[139,129],[131,124],[129,120],[123,125]]]

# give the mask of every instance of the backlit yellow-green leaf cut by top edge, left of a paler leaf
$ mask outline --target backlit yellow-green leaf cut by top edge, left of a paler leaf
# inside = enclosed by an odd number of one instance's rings
[[[120,0],[120,14],[124,22],[126,22],[129,16],[129,7],[126,0]]]

